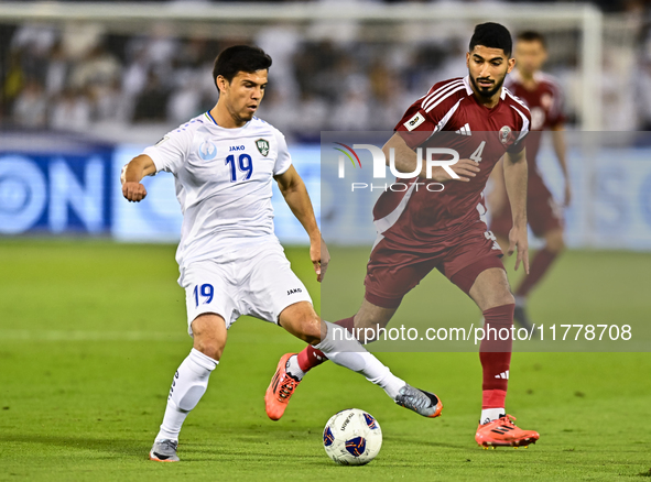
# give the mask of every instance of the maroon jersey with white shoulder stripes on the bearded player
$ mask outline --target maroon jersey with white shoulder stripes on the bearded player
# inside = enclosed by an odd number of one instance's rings
[[[468,77],[435,84],[406,110],[395,131],[423,153],[428,146],[454,149],[459,158],[475,160],[480,172],[467,183],[446,183],[440,193],[427,190],[424,184],[432,180],[419,177],[409,179],[402,193],[387,190],[373,208],[378,232],[413,251],[454,245],[460,231],[484,222],[482,191],[490,172],[507,151],[522,151],[530,123],[527,106],[504,88],[498,105],[488,109],[476,100]]]

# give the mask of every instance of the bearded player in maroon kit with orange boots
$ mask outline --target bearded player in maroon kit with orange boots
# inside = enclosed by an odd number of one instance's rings
[[[421,174],[404,183],[406,190],[387,190],[378,199],[373,208],[378,240],[367,266],[365,299],[355,316],[337,321],[355,335],[360,329],[386,327],[403,296],[434,269],[477,304],[486,328],[510,331],[514,299],[502,251],[482,219],[482,191],[503,156],[513,212],[508,251],[517,250],[517,265],[522,262],[529,271],[524,139],[531,114],[502,88],[516,64],[511,47],[511,36],[502,25],[477,25],[466,54],[468,75],[435,84],[408,109],[383,146],[387,158],[393,151],[395,167],[402,173],[415,173],[417,151],[425,153],[427,147],[455,150],[460,160],[451,166],[454,175],[435,167],[431,179],[422,165]],[[431,180],[442,183],[444,189],[422,188]],[[504,408],[511,341],[510,337],[484,339],[479,348],[484,382],[475,440],[484,447],[527,446],[539,438],[533,430],[518,428]],[[296,383],[291,391],[279,391],[273,383],[269,386],[268,414],[282,414],[305,372],[326,359],[313,347],[285,357],[286,364],[279,364],[273,380],[291,376]]]

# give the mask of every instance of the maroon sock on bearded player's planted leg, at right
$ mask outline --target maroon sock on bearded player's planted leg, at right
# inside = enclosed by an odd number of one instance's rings
[[[481,408],[502,408],[504,406],[513,344],[511,327],[513,326],[514,308],[516,305],[511,304],[484,311],[486,335],[479,346],[479,360],[484,372]],[[500,335],[506,340],[501,340]]]

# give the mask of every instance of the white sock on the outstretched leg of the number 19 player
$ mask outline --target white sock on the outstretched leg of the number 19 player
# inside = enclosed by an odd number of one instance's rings
[[[359,341],[346,337],[346,328],[329,321],[324,322],[327,333],[314,348],[323,351],[334,363],[361,373],[369,382],[381,386],[387,395],[395,399],[400,388],[406,384],[404,380],[392,374],[389,368],[369,353]]]

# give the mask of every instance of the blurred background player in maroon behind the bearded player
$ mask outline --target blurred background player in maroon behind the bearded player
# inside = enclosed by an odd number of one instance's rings
[[[527,188],[527,218],[536,238],[544,239],[545,245],[531,261],[531,272],[516,288],[514,320],[520,326],[531,329],[527,314],[529,294],[538,286],[552,263],[565,248],[563,240],[563,211],[554,200],[538,169],[540,131],[552,131],[553,146],[565,177],[564,205],[569,205],[571,186],[565,160],[565,139],[563,124],[563,94],[557,81],[551,75],[540,70],[546,59],[544,37],[538,32],[522,32],[516,44],[516,69],[506,81],[507,87],[518,96],[531,111],[531,130],[527,143],[529,183]],[[490,229],[500,245],[506,245],[511,229],[511,210],[507,200],[503,178],[493,175],[493,188],[488,196],[489,211],[492,216]]]

